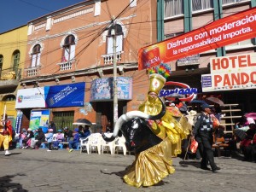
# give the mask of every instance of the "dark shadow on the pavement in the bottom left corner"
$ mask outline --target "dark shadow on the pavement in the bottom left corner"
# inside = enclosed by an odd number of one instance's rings
[[[26,176],[25,174],[7,175],[0,177],[0,192],[13,191],[13,192],[26,192],[20,183],[11,183],[12,178],[15,176]]]

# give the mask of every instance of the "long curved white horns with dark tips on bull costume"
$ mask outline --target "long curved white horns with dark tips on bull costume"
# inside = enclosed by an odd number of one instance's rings
[[[113,140],[115,139],[115,137],[118,136],[119,133],[119,129],[121,128],[121,126],[128,122],[129,120],[133,119],[133,118],[141,118],[141,119],[152,119],[152,120],[156,120],[156,119],[161,119],[165,113],[166,113],[166,104],[162,101],[162,99],[158,96],[158,98],[160,99],[160,102],[163,106],[161,112],[157,115],[150,115],[147,113],[143,113],[141,111],[130,111],[127,112],[125,114],[122,114],[119,119],[116,121],[114,128],[113,128],[113,134],[111,137],[106,137],[106,135],[102,132],[102,137],[106,142],[113,142]]]

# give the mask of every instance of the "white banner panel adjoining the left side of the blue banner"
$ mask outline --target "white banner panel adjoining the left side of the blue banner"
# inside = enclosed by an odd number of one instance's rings
[[[15,108],[45,108],[44,87],[18,90]]]

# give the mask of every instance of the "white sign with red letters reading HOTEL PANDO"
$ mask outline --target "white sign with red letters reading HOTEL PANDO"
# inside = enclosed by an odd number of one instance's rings
[[[210,68],[201,76],[203,92],[256,89],[256,53],[212,58]]]

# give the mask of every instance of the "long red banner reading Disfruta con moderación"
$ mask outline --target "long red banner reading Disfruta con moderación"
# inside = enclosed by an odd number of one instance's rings
[[[138,68],[142,70],[196,55],[210,49],[256,37],[256,7],[213,21],[207,26],[139,49]]]

